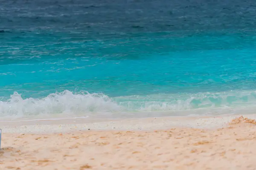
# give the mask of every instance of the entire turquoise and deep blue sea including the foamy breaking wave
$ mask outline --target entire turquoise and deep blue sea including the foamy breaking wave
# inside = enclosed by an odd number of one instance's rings
[[[255,0],[0,4],[0,121],[255,113]]]

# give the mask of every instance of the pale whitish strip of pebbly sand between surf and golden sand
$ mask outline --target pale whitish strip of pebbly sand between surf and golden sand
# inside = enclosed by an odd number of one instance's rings
[[[2,133],[67,133],[86,130],[166,130],[173,127],[216,129],[239,116],[256,119],[256,114],[218,116],[166,116],[132,119],[59,119],[0,122]]]

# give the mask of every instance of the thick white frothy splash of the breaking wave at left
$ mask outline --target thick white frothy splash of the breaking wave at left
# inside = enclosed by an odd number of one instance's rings
[[[86,91],[49,94],[42,99],[22,99],[17,92],[7,101],[0,101],[0,116],[34,116],[40,114],[86,114],[86,112],[115,112],[120,106],[104,94],[90,94]],[[83,115],[84,116],[84,115]]]

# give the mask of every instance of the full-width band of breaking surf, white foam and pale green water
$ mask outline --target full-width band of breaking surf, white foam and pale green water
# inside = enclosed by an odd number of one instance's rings
[[[123,118],[147,116],[216,115],[254,113],[255,91],[198,94],[153,94],[109,97],[101,93],[65,90],[35,99],[14,92],[0,101],[0,121],[13,119],[61,119],[73,117]],[[16,120],[17,121],[17,120]]]

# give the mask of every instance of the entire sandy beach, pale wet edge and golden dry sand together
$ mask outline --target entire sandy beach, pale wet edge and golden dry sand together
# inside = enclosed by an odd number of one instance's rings
[[[245,116],[0,122],[0,170],[255,170]]]

